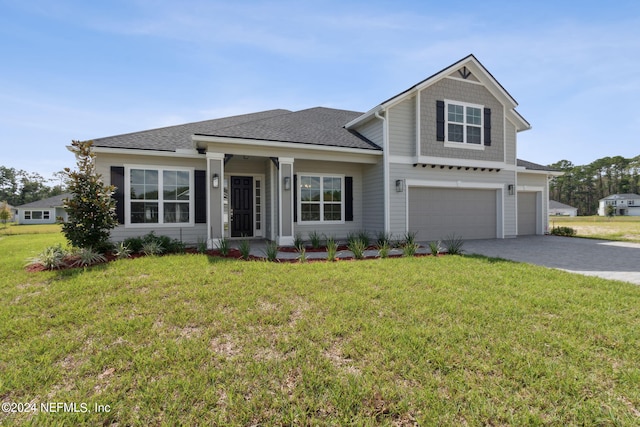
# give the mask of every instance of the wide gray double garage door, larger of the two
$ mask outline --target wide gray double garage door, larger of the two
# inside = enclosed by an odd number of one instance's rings
[[[421,241],[454,233],[463,239],[495,239],[496,210],[495,190],[409,189],[409,231]]]

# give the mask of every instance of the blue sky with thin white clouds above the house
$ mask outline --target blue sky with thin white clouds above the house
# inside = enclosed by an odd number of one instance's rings
[[[0,0],[0,165],[50,177],[72,139],[367,111],[469,53],[533,126],[520,158],[634,157],[639,29],[637,1]]]

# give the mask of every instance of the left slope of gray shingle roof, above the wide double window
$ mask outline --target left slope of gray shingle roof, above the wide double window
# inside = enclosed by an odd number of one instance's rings
[[[150,129],[141,132],[127,133],[123,135],[96,138],[93,140],[95,147],[109,148],[135,148],[140,150],[175,151],[177,149],[193,149],[191,136],[196,133],[214,133],[218,129],[241,123],[261,120],[281,114],[290,113],[288,110],[268,110],[259,113],[243,114],[239,116],[223,117],[220,119],[205,120],[202,122],[186,123],[176,126],[167,126],[158,129]]]

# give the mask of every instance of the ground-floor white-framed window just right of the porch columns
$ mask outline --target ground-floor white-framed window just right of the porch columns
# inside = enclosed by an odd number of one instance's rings
[[[300,175],[299,181],[301,222],[343,220],[343,177]]]

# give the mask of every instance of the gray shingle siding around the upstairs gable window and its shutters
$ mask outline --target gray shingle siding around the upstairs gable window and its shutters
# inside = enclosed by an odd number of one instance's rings
[[[436,140],[436,101],[449,99],[491,108],[491,146],[484,150],[445,147]],[[421,92],[420,154],[473,160],[504,160],[504,109],[502,104],[479,84],[442,79]]]

